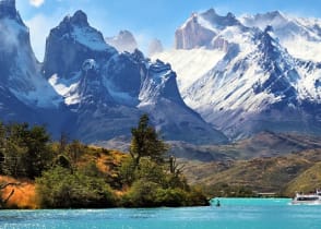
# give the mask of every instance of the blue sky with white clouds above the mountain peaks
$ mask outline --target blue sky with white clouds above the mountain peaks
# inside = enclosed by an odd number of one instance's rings
[[[142,49],[152,38],[170,48],[175,29],[192,12],[210,8],[224,15],[280,10],[292,15],[321,17],[321,0],[16,0],[16,8],[31,29],[40,61],[50,28],[76,10],[86,12],[90,24],[104,36],[114,36],[120,29],[132,32]]]

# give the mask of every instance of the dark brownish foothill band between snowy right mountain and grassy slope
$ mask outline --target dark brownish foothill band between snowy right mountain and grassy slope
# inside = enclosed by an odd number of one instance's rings
[[[251,159],[253,157],[275,157],[305,149],[321,148],[321,137],[262,132],[250,138],[228,145],[195,146],[173,142],[173,154],[177,157],[215,161],[228,159]]]

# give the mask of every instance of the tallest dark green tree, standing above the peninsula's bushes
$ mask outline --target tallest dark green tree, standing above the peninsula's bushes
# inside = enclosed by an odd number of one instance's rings
[[[168,150],[167,144],[159,140],[155,129],[148,125],[148,116],[143,114],[138,126],[131,130],[130,155],[135,168],[139,167],[142,157],[148,157],[156,164],[164,162],[164,155]]]

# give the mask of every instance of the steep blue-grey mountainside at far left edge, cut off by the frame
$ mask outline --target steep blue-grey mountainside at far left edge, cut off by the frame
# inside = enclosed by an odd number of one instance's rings
[[[0,70],[1,121],[46,124],[49,131],[59,133],[62,99],[40,74],[28,28],[14,0],[0,1]]]

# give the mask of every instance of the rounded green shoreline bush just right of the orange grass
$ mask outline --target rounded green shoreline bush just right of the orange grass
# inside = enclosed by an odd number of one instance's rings
[[[116,197],[104,179],[56,167],[36,179],[41,207],[111,207]]]

